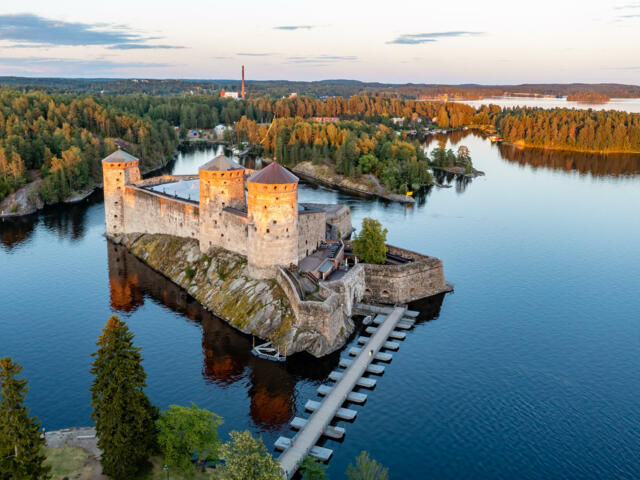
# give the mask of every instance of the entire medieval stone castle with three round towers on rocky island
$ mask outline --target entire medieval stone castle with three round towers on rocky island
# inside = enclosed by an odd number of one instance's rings
[[[357,302],[408,303],[450,289],[438,258],[389,246],[385,265],[358,263],[349,207],[299,203],[298,178],[277,162],[253,172],[221,155],[198,175],[142,180],[138,159],[116,150],[102,167],[108,237],[171,235],[196,240],[203,254],[246,257],[248,276],[276,280],[296,325],[326,340],[323,352],[353,330]]]

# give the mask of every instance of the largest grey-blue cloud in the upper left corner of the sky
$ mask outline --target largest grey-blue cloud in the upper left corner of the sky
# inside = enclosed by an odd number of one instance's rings
[[[154,38],[134,32],[126,25],[65,22],[32,13],[0,15],[0,40],[25,42],[32,45],[111,45],[117,48],[116,46],[120,45],[143,45],[144,42]]]

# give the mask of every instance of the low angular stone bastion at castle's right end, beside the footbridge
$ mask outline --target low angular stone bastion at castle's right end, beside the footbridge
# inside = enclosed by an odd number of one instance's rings
[[[363,300],[373,303],[408,303],[451,287],[444,280],[442,260],[388,245],[389,253],[414,259],[402,265],[362,264],[366,289]]]

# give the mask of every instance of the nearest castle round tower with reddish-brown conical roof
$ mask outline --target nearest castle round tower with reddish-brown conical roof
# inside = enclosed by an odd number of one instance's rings
[[[298,263],[298,177],[273,162],[247,181],[249,273],[270,278]]]

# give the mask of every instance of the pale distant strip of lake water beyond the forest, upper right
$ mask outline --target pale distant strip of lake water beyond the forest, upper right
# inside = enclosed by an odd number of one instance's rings
[[[612,98],[606,103],[573,102],[563,98],[540,97],[486,97],[481,100],[455,100],[479,107],[481,105],[500,105],[501,107],[539,107],[539,108],[577,108],[593,110],[622,110],[640,113],[640,98]]]

